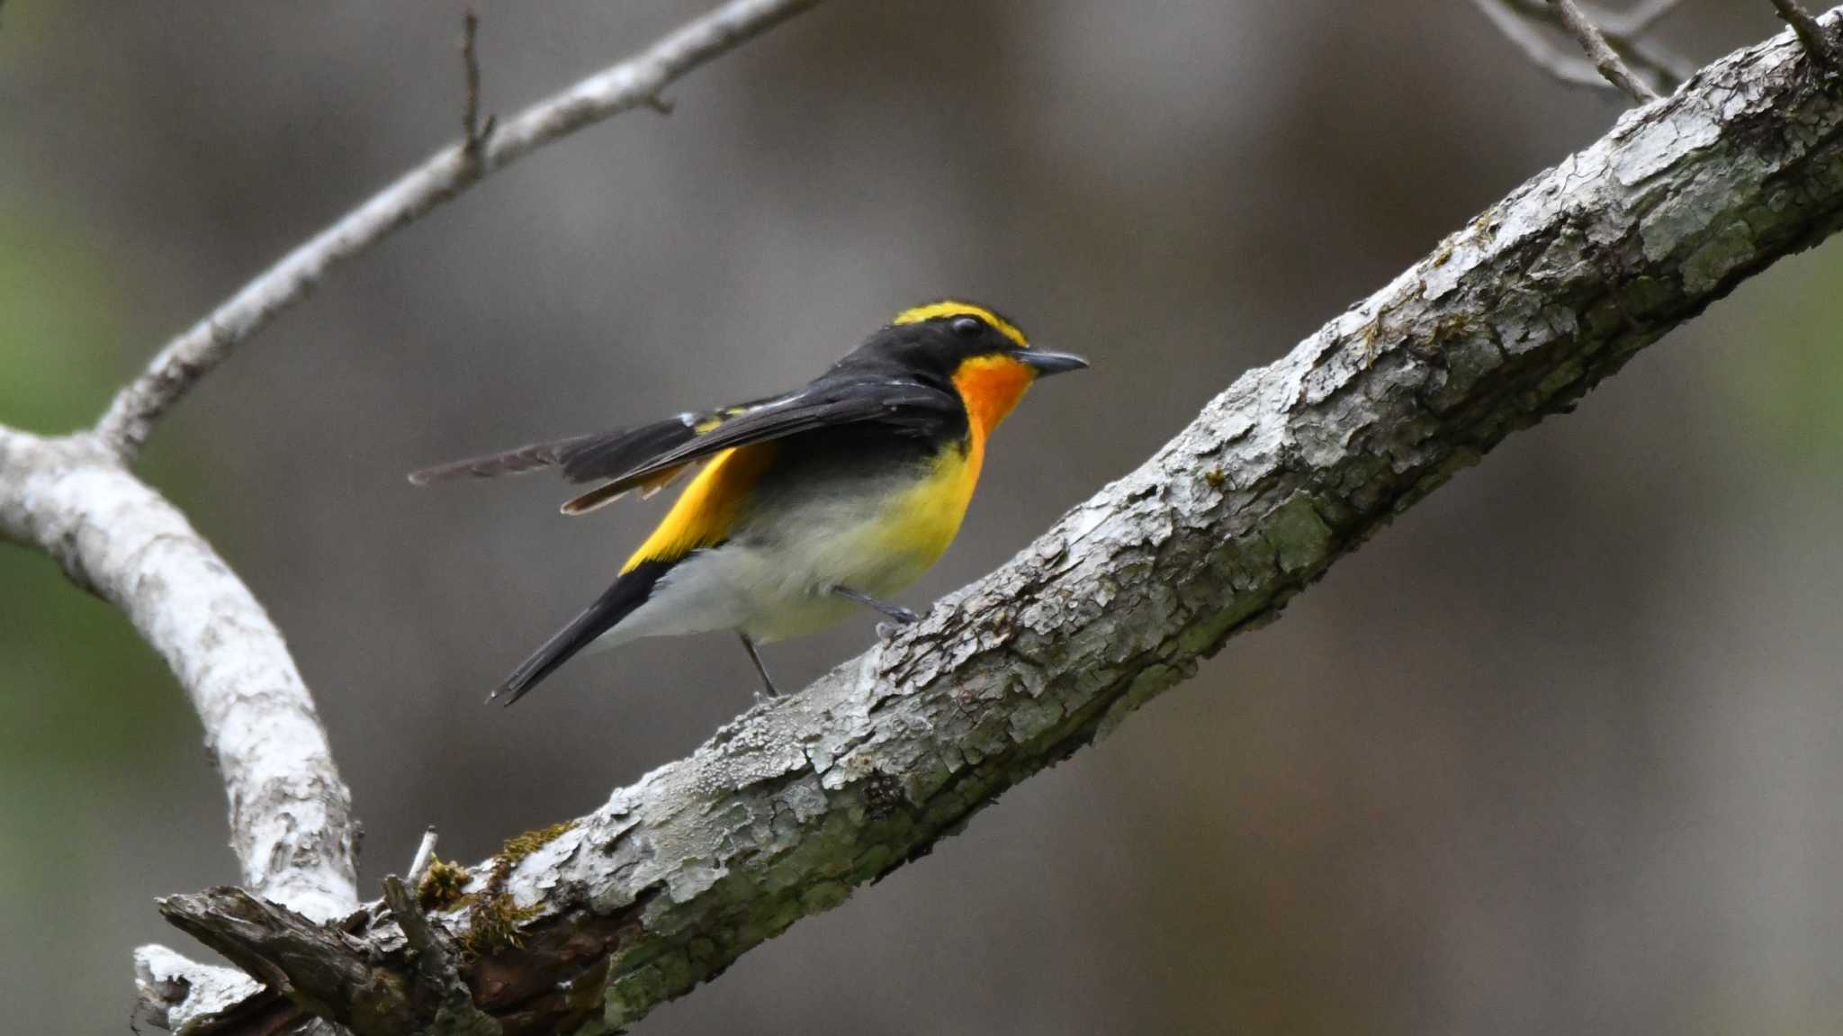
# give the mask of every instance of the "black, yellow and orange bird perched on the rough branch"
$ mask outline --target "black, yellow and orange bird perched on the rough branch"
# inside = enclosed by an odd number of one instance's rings
[[[643,636],[735,630],[769,695],[757,643],[818,632],[888,603],[953,542],[986,437],[1045,374],[1087,367],[1030,348],[1017,324],[971,302],[903,310],[804,387],[652,424],[536,442],[426,468],[426,485],[562,468],[595,489],[586,514],[641,498],[702,465],[614,584],[492,693],[512,704],[573,654]]]

